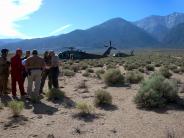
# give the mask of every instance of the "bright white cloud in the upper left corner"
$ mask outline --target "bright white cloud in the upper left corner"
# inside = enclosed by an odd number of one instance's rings
[[[0,0],[0,37],[27,38],[19,31],[18,21],[29,19],[43,0]]]

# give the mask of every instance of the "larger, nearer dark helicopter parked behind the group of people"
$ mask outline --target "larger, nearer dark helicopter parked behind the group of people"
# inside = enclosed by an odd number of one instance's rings
[[[112,46],[112,41],[109,41],[109,44],[104,45],[104,47],[106,47],[107,50],[102,55],[87,53],[80,49],[76,49],[75,47],[66,47],[68,48],[68,50],[59,53],[59,58],[60,59],[73,59],[73,60],[99,59],[99,58],[108,57],[112,50],[116,50],[116,48]]]

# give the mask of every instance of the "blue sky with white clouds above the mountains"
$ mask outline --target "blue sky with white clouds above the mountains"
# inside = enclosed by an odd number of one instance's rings
[[[184,13],[184,0],[0,0],[0,39],[48,37],[116,17],[136,21],[173,12]]]

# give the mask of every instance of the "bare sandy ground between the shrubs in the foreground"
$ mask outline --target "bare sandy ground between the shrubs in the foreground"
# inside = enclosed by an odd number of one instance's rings
[[[184,82],[182,75],[174,75]],[[184,137],[184,109],[174,105],[165,110],[137,109],[133,98],[139,85],[106,87],[103,80],[83,77],[60,77],[60,86],[67,96],[61,103],[42,99],[39,104],[26,102],[18,118],[10,110],[0,110],[1,138],[168,138]],[[88,90],[78,89],[86,81]],[[74,103],[86,101],[93,105],[95,91],[106,89],[113,97],[108,109],[95,108],[95,116],[77,118]],[[45,90],[47,86],[45,86]]]

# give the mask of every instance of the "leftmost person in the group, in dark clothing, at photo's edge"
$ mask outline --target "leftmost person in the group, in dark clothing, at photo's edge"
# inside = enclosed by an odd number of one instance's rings
[[[1,50],[0,57],[0,96],[7,94],[10,62],[7,60],[8,49]]]

